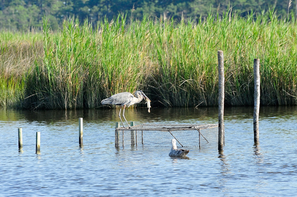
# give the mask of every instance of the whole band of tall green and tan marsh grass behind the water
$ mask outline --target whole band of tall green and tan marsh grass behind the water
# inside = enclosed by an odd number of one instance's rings
[[[216,106],[217,51],[224,51],[225,103],[253,105],[253,59],[261,104],[297,105],[297,24],[273,13],[164,17],[97,27],[70,19],[52,33],[0,33],[0,105],[96,108],[112,94],[143,89],[153,106]]]

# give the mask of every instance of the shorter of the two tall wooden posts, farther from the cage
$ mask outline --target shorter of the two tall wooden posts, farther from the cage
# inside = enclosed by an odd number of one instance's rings
[[[259,142],[259,108],[260,108],[260,59],[254,59],[254,143]]]

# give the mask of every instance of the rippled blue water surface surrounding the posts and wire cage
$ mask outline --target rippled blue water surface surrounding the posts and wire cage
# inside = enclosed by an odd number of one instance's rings
[[[216,146],[191,147],[188,159],[168,157],[170,142],[164,148],[116,150],[117,113],[0,110],[0,196],[297,196],[297,107],[261,107],[258,146],[253,108],[227,108],[223,154]],[[137,108],[126,110],[126,118],[136,124],[217,123],[217,109]]]

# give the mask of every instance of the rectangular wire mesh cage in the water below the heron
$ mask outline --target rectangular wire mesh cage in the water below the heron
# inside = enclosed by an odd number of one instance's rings
[[[217,124],[140,124],[131,128],[116,128],[115,147],[204,147],[218,142]]]

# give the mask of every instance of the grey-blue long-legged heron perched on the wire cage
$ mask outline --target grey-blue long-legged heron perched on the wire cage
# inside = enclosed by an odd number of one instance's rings
[[[129,107],[131,105],[134,105],[135,103],[139,103],[141,102],[143,99],[148,100],[150,102],[150,100],[148,99],[147,95],[145,95],[145,93],[142,90],[137,90],[134,95],[131,94],[130,92],[121,92],[121,93],[117,93],[112,95],[111,97],[107,98],[107,99],[103,99],[101,101],[102,105],[106,105],[106,104],[111,104],[111,105],[120,105],[121,109],[120,109],[120,113],[119,113],[119,118],[124,126],[124,123],[122,121],[121,118],[121,110],[123,108],[123,117],[125,118],[125,108]],[[126,120],[127,122],[127,120]],[[128,126],[129,123],[127,122]],[[125,126],[124,126],[125,128]],[[129,128],[131,128],[129,126]]]

